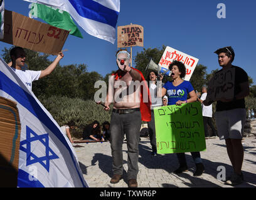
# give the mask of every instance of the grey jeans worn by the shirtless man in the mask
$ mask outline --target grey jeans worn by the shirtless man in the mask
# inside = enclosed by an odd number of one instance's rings
[[[128,171],[127,179],[137,179],[139,173],[139,131],[141,129],[141,112],[134,111],[129,114],[112,113],[110,121],[110,144],[112,150],[113,174],[123,174],[122,144],[124,133],[127,139]]]

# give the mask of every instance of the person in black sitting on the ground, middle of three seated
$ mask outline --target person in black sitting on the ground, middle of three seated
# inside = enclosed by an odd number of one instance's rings
[[[99,138],[100,134],[100,123],[98,121],[93,121],[93,123],[88,124],[83,129],[83,139],[86,140],[93,140],[93,141],[100,141]]]

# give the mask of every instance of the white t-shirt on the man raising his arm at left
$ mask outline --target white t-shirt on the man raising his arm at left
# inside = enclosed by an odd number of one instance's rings
[[[41,71],[32,71],[32,70],[19,70],[12,68],[13,71],[19,76],[21,81],[26,85],[26,87],[32,91],[32,82],[40,78]]]

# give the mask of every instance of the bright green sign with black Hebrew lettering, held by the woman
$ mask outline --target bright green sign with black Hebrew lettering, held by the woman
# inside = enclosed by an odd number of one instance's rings
[[[154,108],[157,153],[205,151],[205,129],[199,102]]]

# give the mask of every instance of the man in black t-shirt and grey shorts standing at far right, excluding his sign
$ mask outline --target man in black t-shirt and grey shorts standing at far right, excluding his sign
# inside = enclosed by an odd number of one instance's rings
[[[226,69],[235,69],[234,95],[217,101],[215,118],[219,137],[225,139],[228,157],[234,170],[232,176],[226,179],[225,184],[237,185],[243,181],[242,134],[246,119],[245,97],[250,93],[248,76],[242,68],[232,65],[235,53],[231,46],[218,49],[215,53],[218,54],[218,63],[223,68],[216,74]],[[211,103],[213,101],[207,98],[203,101],[205,106]]]

